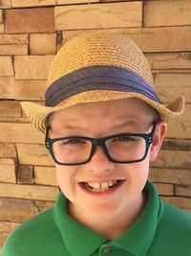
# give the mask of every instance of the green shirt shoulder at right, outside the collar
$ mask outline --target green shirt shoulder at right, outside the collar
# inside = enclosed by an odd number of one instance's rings
[[[155,241],[161,255],[190,255],[191,215],[163,202],[163,213],[158,224]],[[162,254],[163,253],[163,254]]]

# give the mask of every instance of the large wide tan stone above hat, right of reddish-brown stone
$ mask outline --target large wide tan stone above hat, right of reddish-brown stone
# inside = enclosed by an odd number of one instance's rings
[[[141,2],[55,7],[56,30],[140,27],[141,23]]]

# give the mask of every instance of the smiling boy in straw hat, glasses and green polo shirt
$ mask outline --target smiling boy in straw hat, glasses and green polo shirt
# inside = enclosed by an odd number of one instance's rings
[[[22,103],[45,132],[61,192],[25,221],[2,256],[189,256],[191,217],[147,181],[166,122],[183,98],[161,105],[151,71],[125,35],[90,33],[53,59],[46,106]]]

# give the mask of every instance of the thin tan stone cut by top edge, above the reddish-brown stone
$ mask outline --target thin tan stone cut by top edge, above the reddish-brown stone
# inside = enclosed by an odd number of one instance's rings
[[[56,0],[11,0],[11,5],[13,8],[54,6],[55,4]]]

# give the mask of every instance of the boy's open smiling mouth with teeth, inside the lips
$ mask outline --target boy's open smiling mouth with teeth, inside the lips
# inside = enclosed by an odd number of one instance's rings
[[[80,182],[80,184],[87,190],[92,192],[105,192],[108,190],[111,190],[113,188],[116,188],[119,184],[121,184],[124,180],[110,180],[107,182],[94,182],[94,181],[88,181],[88,182]]]

